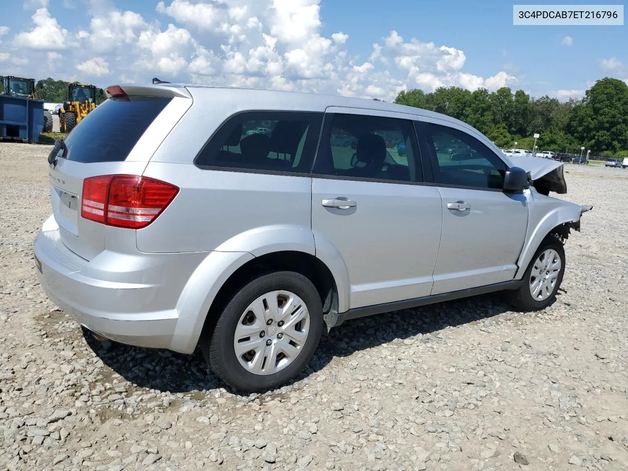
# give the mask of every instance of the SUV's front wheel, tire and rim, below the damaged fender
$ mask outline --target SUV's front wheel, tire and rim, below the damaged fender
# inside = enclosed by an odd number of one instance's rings
[[[556,237],[543,239],[534,253],[519,289],[507,292],[507,300],[522,311],[538,311],[549,306],[565,274],[565,249]]]

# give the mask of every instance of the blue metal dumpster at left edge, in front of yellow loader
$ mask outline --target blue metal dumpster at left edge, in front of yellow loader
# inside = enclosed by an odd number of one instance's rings
[[[0,95],[0,140],[33,143],[43,130],[43,100]]]

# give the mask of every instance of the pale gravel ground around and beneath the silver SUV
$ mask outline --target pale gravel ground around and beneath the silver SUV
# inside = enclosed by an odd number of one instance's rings
[[[566,166],[595,208],[547,310],[347,322],[299,381],[239,396],[198,354],[95,342],[46,300],[49,150],[0,144],[0,470],[628,469],[627,170]]]

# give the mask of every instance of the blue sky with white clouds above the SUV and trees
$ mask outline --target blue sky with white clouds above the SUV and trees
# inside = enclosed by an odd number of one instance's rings
[[[628,81],[625,45],[627,26],[513,26],[512,3],[490,0],[24,0],[3,5],[0,74],[386,100],[507,85],[567,99]]]

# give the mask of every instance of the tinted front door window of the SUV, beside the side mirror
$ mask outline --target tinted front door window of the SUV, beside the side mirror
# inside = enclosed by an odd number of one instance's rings
[[[435,180],[457,187],[504,188],[506,164],[487,146],[452,127],[428,123],[428,146],[435,155]]]

